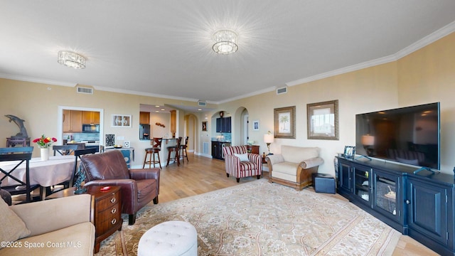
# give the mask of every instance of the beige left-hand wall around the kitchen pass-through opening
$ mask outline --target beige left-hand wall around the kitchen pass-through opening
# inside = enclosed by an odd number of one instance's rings
[[[13,114],[20,117],[25,122],[28,136],[31,139],[45,134],[48,137],[58,137],[58,107],[90,107],[104,110],[104,132],[105,134],[115,134],[115,137],[124,137],[124,141],[129,141],[134,147],[135,159],[133,166],[142,166],[144,161],[144,149],[150,146],[149,141],[139,141],[139,111],[140,104],[145,105],[164,105],[173,104],[197,105],[197,102],[184,102],[181,100],[164,100],[156,97],[146,97],[140,95],[125,95],[117,92],[105,92],[95,90],[93,95],[79,94],[75,87],[64,87],[58,85],[45,85],[35,82],[24,82],[19,80],[8,80],[0,78],[0,137],[11,137],[18,133],[18,127],[14,123],[9,123],[5,114]],[[111,127],[110,118],[112,114],[131,114],[132,127],[118,128]],[[183,112],[179,111],[179,131],[176,136],[183,136]],[[170,117],[167,114],[162,117],[162,122],[166,123],[166,129],[170,127]],[[155,113],[151,114],[151,128],[154,125]],[[163,131],[155,131],[161,132]],[[168,132],[171,135],[170,132]],[[166,134],[166,132],[164,132]],[[102,135],[104,141],[104,135]],[[6,143],[6,139],[4,142]],[[57,142],[56,144],[62,144]],[[123,140],[116,139],[116,144],[123,144]],[[39,156],[38,146],[35,146],[33,157]]]

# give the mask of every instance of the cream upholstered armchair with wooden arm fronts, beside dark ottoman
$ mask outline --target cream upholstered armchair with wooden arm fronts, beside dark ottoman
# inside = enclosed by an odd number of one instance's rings
[[[269,166],[269,182],[291,186],[301,191],[312,183],[311,174],[318,172],[323,159],[318,147],[282,146],[281,154],[266,158]]]

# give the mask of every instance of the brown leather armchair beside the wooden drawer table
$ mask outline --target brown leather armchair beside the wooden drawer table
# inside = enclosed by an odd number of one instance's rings
[[[129,215],[129,225],[136,222],[137,211],[150,201],[158,203],[159,168],[128,169],[119,150],[81,156],[85,186],[122,187],[122,213]]]

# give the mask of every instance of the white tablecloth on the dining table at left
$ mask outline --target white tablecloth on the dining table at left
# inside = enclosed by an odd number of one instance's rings
[[[4,171],[10,171],[18,161],[0,162],[0,168]],[[42,161],[41,158],[33,158],[30,160],[30,184],[41,185],[43,187],[53,186],[63,181],[68,181],[73,174],[75,164],[75,156],[50,156],[48,161]],[[26,181],[26,163],[14,170],[13,174],[21,181]],[[5,175],[0,173],[0,178]],[[14,179],[7,177],[1,181],[1,186],[14,186],[18,184]]]

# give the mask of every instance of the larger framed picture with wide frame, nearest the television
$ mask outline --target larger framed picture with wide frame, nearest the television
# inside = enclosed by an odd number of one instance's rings
[[[338,140],[338,100],[306,105],[308,139]]]

